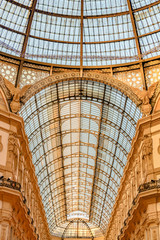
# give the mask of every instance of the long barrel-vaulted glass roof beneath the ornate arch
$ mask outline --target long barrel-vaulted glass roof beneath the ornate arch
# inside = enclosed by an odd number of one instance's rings
[[[87,221],[103,234],[111,215],[138,119],[136,105],[96,81],[68,80],[22,107],[51,234]]]

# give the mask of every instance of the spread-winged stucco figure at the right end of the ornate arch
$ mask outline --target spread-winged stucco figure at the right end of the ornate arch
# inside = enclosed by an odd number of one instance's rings
[[[139,90],[138,88],[131,87],[135,94],[141,99],[142,101],[142,113],[143,116],[148,116],[151,113],[152,106],[150,104],[150,99],[152,98],[155,88],[158,82],[153,83],[148,90],[143,88],[143,91]]]

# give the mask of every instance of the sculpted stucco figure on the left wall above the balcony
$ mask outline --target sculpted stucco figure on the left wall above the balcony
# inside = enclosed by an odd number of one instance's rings
[[[16,133],[10,132],[8,138],[8,153],[10,167],[14,167],[14,171],[17,169],[18,157],[19,157],[19,145]],[[13,166],[14,165],[14,166]]]

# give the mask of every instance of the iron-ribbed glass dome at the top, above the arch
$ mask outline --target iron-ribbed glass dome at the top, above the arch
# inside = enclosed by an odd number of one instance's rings
[[[1,0],[0,51],[54,65],[106,66],[159,56],[156,0]]]

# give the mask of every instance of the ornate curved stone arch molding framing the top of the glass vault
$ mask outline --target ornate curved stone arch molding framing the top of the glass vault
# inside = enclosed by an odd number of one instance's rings
[[[61,82],[61,81],[68,81],[68,80],[78,80],[78,79],[84,79],[84,80],[92,80],[97,82],[102,82],[104,84],[110,85],[122,93],[124,93],[126,96],[128,96],[137,106],[141,104],[141,100],[139,97],[133,92],[131,87],[124,82],[121,82],[115,77],[109,76],[108,74],[100,74],[95,72],[84,72],[83,76],[80,76],[79,72],[75,71],[69,71],[64,73],[57,73],[53,74],[52,76],[49,76],[45,79],[40,80],[39,82],[35,83],[33,86],[28,89],[22,99],[23,104],[25,104],[33,95],[40,92],[42,89],[53,85],[55,83]]]

